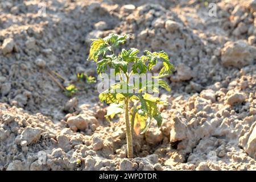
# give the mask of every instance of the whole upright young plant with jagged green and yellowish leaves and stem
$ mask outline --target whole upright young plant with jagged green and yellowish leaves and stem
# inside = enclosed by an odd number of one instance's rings
[[[105,73],[108,68],[114,69],[114,76],[119,76],[119,82],[110,85],[110,88],[100,93],[101,102],[110,104],[106,118],[113,118],[115,114],[125,113],[127,157],[133,158],[133,131],[143,134],[147,131],[154,118],[160,126],[162,116],[157,104],[163,104],[158,97],[148,93],[148,90],[159,92],[159,86],[170,91],[171,88],[161,78],[171,74],[174,66],[170,63],[166,52],[144,51],[138,56],[137,48],[122,49],[115,54],[114,50],[124,44],[128,35],[109,34],[105,38],[93,39],[90,46],[88,60],[94,60],[98,75]],[[162,69],[156,81],[144,80],[135,84],[134,76],[142,76],[151,71],[158,61],[162,61]],[[136,82],[136,81],[135,81]],[[130,107],[130,102],[133,106]]]

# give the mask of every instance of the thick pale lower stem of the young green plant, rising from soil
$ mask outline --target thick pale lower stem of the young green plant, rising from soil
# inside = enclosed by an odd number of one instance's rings
[[[131,125],[129,121],[129,98],[125,99],[125,123],[127,139],[127,157],[133,158],[133,137],[131,134]]]

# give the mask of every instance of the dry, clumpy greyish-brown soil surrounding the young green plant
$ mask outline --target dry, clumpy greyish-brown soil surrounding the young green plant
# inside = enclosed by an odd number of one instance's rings
[[[256,169],[256,1],[212,1],[213,17],[197,0],[40,2],[0,2],[0,170]],[[97,84],[76,77],[96,76],[90,39],[110,32],[175,65],[134,159],[123,115],[106,121]]]

